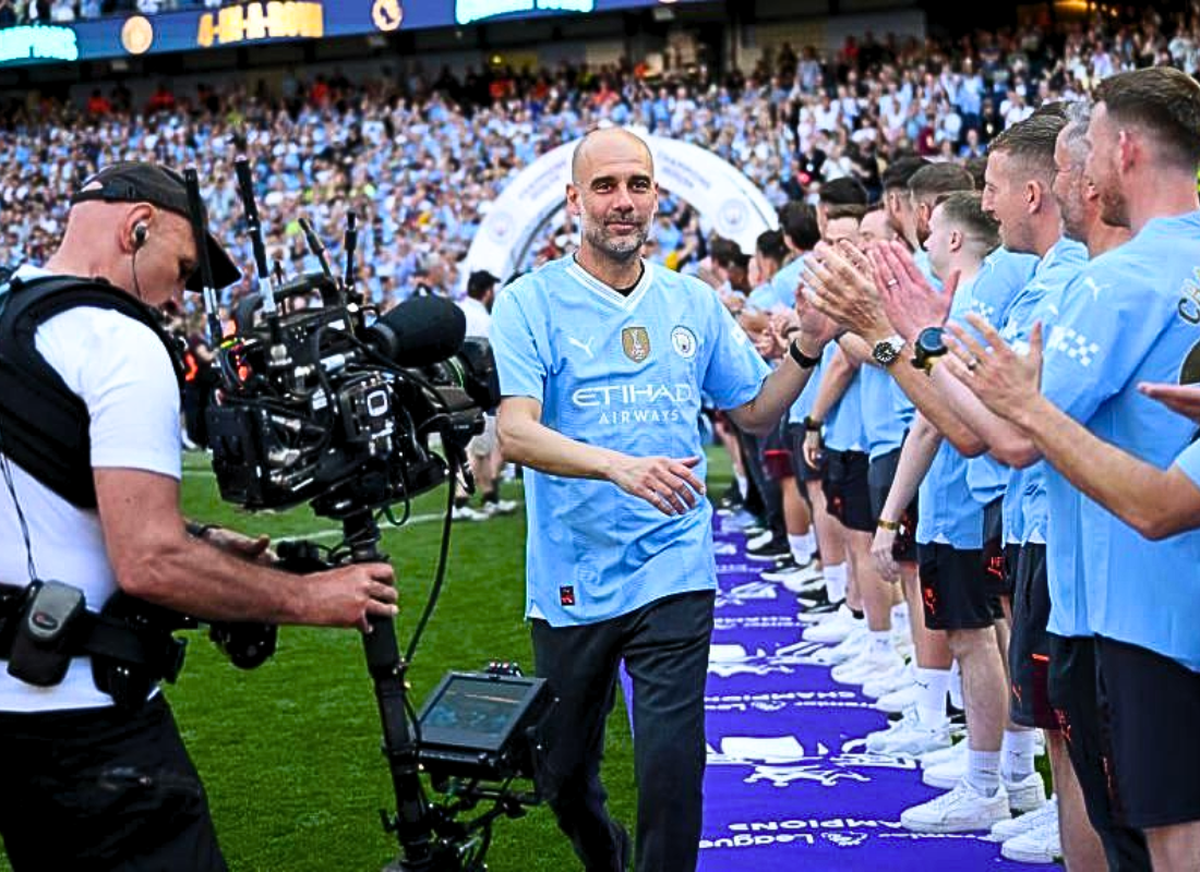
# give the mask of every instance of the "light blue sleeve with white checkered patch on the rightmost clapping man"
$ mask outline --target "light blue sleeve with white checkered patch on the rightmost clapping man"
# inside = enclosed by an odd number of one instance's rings
[[[1160,302],[1136,279],[1100,269],[1078,276],[1066,299],[1046,337],[1042,392],[1087,422],[1153,348],[1163,329]]]

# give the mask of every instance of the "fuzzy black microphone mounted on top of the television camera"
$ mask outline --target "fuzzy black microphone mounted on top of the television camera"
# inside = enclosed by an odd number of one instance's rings
[[[440,296],[414,296],[366,329],[362,338],[397,366],[440,363],[458,354],[467,317]]]

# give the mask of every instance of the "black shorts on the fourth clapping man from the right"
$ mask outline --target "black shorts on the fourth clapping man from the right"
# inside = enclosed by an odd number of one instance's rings
[[[917,546],[917,560],[925,626],[986,630],[995,623],[998,602],[988,595],[983,552],[931,542]]]

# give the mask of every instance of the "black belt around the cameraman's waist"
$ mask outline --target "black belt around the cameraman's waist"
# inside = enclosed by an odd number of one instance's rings
[[[0,584],[0,660],[8,660],[16,624],[25,603],[28,588]],[[156,679],[174,681],[184,666],[186,643],[161,630],[139,629],[125,621],[83,612],[71,633],[74,656],[98,656],[143,667]]]

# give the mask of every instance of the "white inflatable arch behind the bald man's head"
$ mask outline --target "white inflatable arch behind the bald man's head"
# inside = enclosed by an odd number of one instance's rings
[[[740,170],[698,145],[642,136],[654,156],[659,185],[700,212],[704,224],[755,249],[764,230],[779,225],[775,209]],[[571,155],[578,140],[547,151],[516,174],[492,203],[470,249],[467,270],[487,270],[508,279],[524,261],[538,231],[566,203]]]

